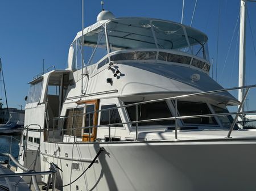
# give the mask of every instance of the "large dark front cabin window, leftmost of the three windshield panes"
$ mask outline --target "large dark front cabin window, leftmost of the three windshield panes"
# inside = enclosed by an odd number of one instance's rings
[[[135,102],[125,102],[125,105],[132,104]],[[136,107],[135,105],[126,107],[130,121],[136,121]],[[138,120],[150,120],[156,118],[172,117],[170,109],[166,104],[166,101],[159,101],[154,103],[140,104],[138,105]],[[174,120],[161,120],[153,122],[141,122],[139,126],[143,125],[171,125],[174,124]],[[136,124],[132,124],[136,126]]]

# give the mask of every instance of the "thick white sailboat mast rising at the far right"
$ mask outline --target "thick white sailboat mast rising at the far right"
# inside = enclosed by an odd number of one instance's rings
[[[240,49],[239,49],[239,79],[238,86],[245,86],[245,29],[246,29],[246,1],[241,0],[240,10]],[[242,102],[244,95],[243,89],[238,91],[238,100]],[[239,106],[238,106],[239,107]],[[244,111],[242,107],[241,112]]]

